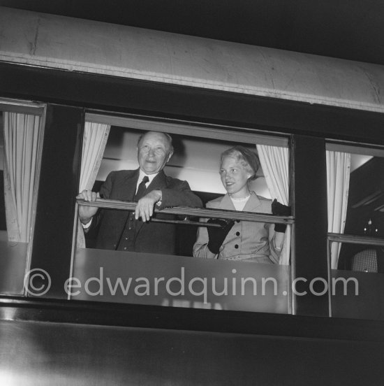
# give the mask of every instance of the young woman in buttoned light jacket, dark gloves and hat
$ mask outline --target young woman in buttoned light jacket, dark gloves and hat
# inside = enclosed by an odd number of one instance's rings
[[[258,166],[257,155],[243,146],[234,146],[223,152],[220,176],[227,194],[207,202],[207,208],[272,213],[272,201],[249,189],[249,181],[256,179]],[[273,208],[276,215],[290,214],[288,206],[276,201]],[[208,222],[221,224],[223,227],[199,227],[193,246],[194,257],[266,264],[279,262],[286,225],[239,220],[226,222],[210,219]]]

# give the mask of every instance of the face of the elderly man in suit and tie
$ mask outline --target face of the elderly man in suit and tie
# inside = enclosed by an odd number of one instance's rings
[[[140,169],[147,174],[163,170],[171,155],[168,139],[163,133],[147,133],[138,144]]]

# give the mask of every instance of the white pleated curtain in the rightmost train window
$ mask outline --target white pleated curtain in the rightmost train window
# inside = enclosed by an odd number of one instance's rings
[[[328,232],[342,234],[346,225],[350,154],[327,150]],[[341,244],[331,245],[331,269],[337,269]]]

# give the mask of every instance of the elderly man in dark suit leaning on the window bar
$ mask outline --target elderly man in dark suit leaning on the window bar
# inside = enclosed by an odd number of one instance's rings
[[[168,177],[163,172],[172,154],[172,138],[168,134],[148,131],[138,141],[139,169],[112,171],[99,194],[84,190],[77,196],[86,201],[95,201],[100,196],[138,202],[134,213],[79,206],[79,218],[86,231],[100,223],[96,248],[175,253],[175,225],[150,222],[154,207],[202,206],[202,202],[186,181]],[[161,217],[166,215],[156,215]]]

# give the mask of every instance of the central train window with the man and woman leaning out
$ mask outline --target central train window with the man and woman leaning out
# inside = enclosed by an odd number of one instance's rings
[[[120,248],[123,238],[127,236],[129,239],[130,235],[126,232],[130,229],[129,213],[134,210],[135,203],[126,201],[132,201],[133,195],[130,196],[131,200],[124,194],[117,194],[105,200],[103,183],[111,171],[139,168],[137,144],[140,135],[145,131],[161,131],[172,136],[175,151],[165,166],[165,174],[170,178],[187,181],[193,194],[201,199],[203,206],[226,194],[219,174],[220,155],[223,151],[234,145],[242,145],[258,154],[262,167],[258,169],[250,189],[260,196],[265,205],[259,210],[259,217],[258,214],[248,212],[235,213],[235,207],[224,210],[211,208],[214,213],[201,207],[156,210],[154,214],[156,226],[168,229],[165,234],[175,229],[174,252],[167,252],[167,248],[163,248],[165,238],[161,241],[156,240],[156,230],[152,233],[152,239],[146,241],[152,243],[154,246],[152,250],[149,248],[149,251],[143,252],[136,247],[135,250],[132,245],[128,245],[129,243],[126,243],[127,249]],[[93,150],[90,150],[91,148]],[[123,219],[121,220],[124,223],[123,233],[117,235],[119,240],[108,249],[102,249],[98,244],[100,229],[91,227],[87,230],[86,224],[83,237],[84,226],[78,224],[72,272],[72,277],[76,279],[73,284],[76,286],[68,288],[68,297],[118,303],[289,313],[290,224],[293,220],[287,213],[285,217],[279,213],[280,216],[277,218],[270,212],[273,198],[278,198],[281,204],[289,205],[288,157],[288,138],[283,136],[265,136],[251,131],[191,127],[187,124],[88,114],[84,127],[80,191],[101,190],[102,197],[96,201],[101,218],[114,217],[108,213],[126,214],[115,216]],[[277,185],[283,194],[279,192],[276,195]],[[212,217],[226,218],[229,222],[233,215],[238,215],[241,219],[239,213],[248,217],[243,222],[237,220],[233,224],[247,222],[252,224],[250,226],[254,229],[268,229],[268,231],[272,229],[272,232],[274,222],[288,224],[288,230],[282,234],[278,255],[272,257],[276,264],[267,264],[271,262],[269,252],[268,261],[258,264],[250,262],[252,257],[253,261],[258,260],[256,256],[251,256],[251,253],[249,262],[239,262],[240,253],[237,255],[233,253],[230,259],[199,258],[201,256],[196,253],[194,244],[198,229],[204,229],[202,232],[207,234],[207,227],[200,226],[202,221]],[[261,215],[265,213],[264,217],[260,217],[260,213]],[[241,242],[242,235],[239,233],[240,231],[236,229],[234,235],[237,236],[234,237]],[[137,233],[135,237],[140,237],[140,234]],[[271,243],[274,242],[275,240],[271,240]],[[239,251],[242,249],[242,245],[236,241],[233,242],[233,246]],[[259,294],[258,297],[255,297],[256,293]]]

